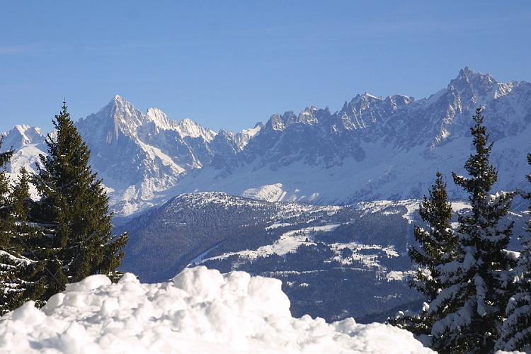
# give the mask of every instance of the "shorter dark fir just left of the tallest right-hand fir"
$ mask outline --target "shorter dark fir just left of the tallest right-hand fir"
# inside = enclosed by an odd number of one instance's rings
[[[426,296],[428,304],[442,288],[439,265],[455,260],[458,245],[457,236],[450,227],[452,205],[448,202],[446,183],[442,181],[439,171],[436,177],[435,184],[429,190],[429,198],[424,196],[418,210],[430,229],[426,231],[416,226],[414,236],[418,246],[409,247],[409,257],[419,266],[409,285]],[[425,306],[419,314],[406,314],[389,322],[416,335],[429,335],[433,322],[442,318],[444,313],[428,314],[427,309],[428,306]]]

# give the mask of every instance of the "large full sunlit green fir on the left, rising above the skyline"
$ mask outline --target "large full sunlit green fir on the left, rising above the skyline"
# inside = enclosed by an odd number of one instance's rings
[[[89,166],[90,151],[67,113],[55,116],[55,135],[46,139],[33,183],[41,197],[33,217],[47,228],[42,256],[54,275],[45,298],[67,282],[88,275],[112,275],[121,264],[127,234],[113,236],[108,197]]]

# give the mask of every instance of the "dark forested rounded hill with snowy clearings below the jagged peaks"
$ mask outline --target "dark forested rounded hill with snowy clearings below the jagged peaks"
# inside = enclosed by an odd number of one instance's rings
[[[171,278],[188,263],[245,270],[283,280],[295,316],[358,318],[418,299],[403,281],[411,262],[399,256],[411,237],[404,215],[416,203],[353,208],[179,195],[122,226],[130,232],[122,270],[142,282]]]

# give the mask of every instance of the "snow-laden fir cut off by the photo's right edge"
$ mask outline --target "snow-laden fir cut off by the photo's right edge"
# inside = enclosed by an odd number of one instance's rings
[[[527,154],[531,166],[531,154]],[[531,175],[527,175],[531,182]],[[531,201],[531,192],[524,194]],[[531,212],[531,204],[529,207]],[[503,321],[501,335],[496,343],[498,350],[531,350],[531,220],[527,222],[526,234],[522,237],[523,249],[515,268],[515,293],[510,297]]]

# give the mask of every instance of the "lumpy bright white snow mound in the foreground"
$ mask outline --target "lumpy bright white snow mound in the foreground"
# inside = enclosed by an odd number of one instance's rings
[[[0,352],[431,353],[393,326],[295,319],[280,285],[203,266],[159,284],[93,275],[1,317]]]

